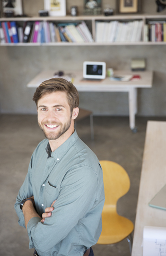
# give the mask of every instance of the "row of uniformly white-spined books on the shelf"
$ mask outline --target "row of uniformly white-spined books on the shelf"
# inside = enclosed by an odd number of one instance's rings
[[[96,22],[95,42],[142,41],[143,20]]]

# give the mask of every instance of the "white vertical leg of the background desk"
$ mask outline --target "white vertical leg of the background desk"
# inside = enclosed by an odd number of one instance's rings
[[[129,125],[133,132],[136,132],[135,114],[137,113],[137,88],[130,88],[128,92],[129,101]]]

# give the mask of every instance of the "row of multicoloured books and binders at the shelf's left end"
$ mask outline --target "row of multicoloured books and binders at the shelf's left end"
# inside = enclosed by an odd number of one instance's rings
[[[86,23],[59,23],[48,21],[28,21],[24,29],[16,23],[0,23],[1,43],[54,43],[54,42],[93,42]]]

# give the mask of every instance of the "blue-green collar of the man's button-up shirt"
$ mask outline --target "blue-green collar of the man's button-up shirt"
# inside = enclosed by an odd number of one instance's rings
[[[74,133],[62,144],[60,147],[58,147],[54,152],[51,151],[49,142],[46,147],[46,152],[49,157],[54,157],[58,162],[60,159],[63,158],[63,156],[67,153],[67,151],[73,146],[73,144],[78,139],[77,132],[74,131]]]

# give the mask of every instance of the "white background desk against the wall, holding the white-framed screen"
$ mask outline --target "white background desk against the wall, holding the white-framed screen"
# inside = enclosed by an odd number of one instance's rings
[[[44,70],[28,83],[28,87],[38,87],[43,81],[54,77],[55,71]],[[102,81],[83,81],[82,72],[75,73],[73,84],[80,92],[128,92],[129,101],[129,125],[130,129],[135,129],[135,114],[137,113],[137,88],[152,87],[153,72],[131,72],[115,71],[115,75],[139,74],[139,81],[119,82],[111,81],[108,77]],[[65,78],[65,77],[64,77]]]

